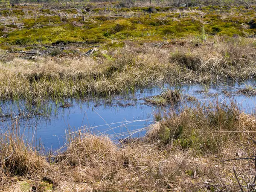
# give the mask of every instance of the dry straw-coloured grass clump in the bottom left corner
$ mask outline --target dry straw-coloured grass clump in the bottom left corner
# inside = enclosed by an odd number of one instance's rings
[[[41,184],[53,171],[47,160],[32,145],[15,134],[0,137],[0,190],[22,178],[40,179]],[[40,183],[39,183],[40,185]]]

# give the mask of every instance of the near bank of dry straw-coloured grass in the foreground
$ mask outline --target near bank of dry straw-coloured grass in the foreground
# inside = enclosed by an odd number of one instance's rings
[[[239,191],[240,184],[251,191],[253,161],[223,160],[253,159],[255,122],[239,106],[217,102],[166,114],[141,139],[70,133],[66,149],[47,156],[2,135],[0,190]]]

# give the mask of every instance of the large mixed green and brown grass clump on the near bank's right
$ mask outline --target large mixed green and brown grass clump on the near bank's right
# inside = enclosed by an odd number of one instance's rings
[[[171,114],[147,137],[163,145],[171,143],[172,147],[181,150],[192,149],[195,154],[212,154],[219,153],[233,143],[232,140],[244,142],[247,131],[253,131],[255,127],[255,120],[240,112],[236,105],[217,103],[213,109],[189,108],[180,115]]]

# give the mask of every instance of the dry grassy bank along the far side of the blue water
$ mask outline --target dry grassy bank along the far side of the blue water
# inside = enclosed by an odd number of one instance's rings
[[[125,42],[92,57],[13,58],[0,63],[0,98],[63,98],[110,95],[168,82],[219,82],[255,78],[254,39],[215,36],[162,46]]]

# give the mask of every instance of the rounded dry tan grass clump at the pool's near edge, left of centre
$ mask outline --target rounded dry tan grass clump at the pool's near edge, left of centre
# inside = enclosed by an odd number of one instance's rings
[[[56,158],[58,166],[67,167],[73,172],[76,182],[95,183],[102,179],[106,173],[121,169],[122,154],[117,146],[108,137],[95,137],[91,134],[79,134],[70,137],[67,150]],[[77,170],[80,170],[79,174]],[[108,175],[108,177],[115,175]]]

